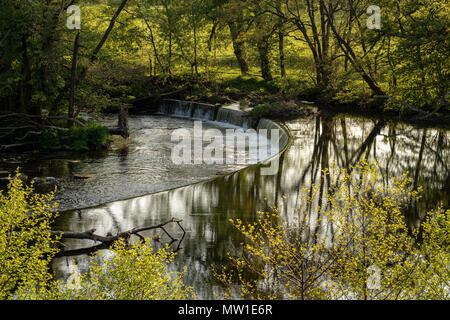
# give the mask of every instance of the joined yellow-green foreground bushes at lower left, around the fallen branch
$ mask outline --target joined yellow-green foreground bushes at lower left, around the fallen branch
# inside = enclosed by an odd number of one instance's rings
[[[186,299],[192,289],[183,273],[171,273],[174,253],[143,244],[115,243],[111,258],[93,262],[89,273],[72,274],[68,284],[48,272],[58,239],[51,235],[54,194],[38,195],[17,171],[0,192],[0,300],[3,299]]]

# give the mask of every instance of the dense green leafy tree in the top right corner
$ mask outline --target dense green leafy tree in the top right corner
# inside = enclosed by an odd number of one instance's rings
[[[447,2],[383,1],[380,6],[385,12],[380,36],[390,43],[385,55],[396,83],[387,93],[416,109],[445,111],[450,80]]]

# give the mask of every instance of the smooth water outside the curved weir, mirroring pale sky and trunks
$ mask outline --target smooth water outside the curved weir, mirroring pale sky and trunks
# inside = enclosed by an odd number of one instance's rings
[[[361,159],[375,162],[386,184],[393,177],[409,172],[414,185],[424,189],[420,203],[408,213],[411,224],[417,224],[427,210],[439,204],[449,207],[450,132],[323,116],[288,125],[295,138],[286,152],[272,160],[279,162],[276,175],[263,176],[260,166],[253,166],[212,181],[67,212],[61,215],[55,228],[73,231],[96,228],[98,234],[114,234],[172,217],[183,219],[187,235],[173,268],[182,270],[186,266],[186,284],[194,286],[200,299],[213,299],[213,292],[219,292],[220,288],[211,278],[211,264],[227,264],[227,252],[239,250],[242,241],[228,220],[240,218],[251,222],[258,210],[281,204],[283,219],[292,219],[294,208],[302,207],[300,188],[310,183],[326,187],[320,172],[331,163],[350,168]],[[179,233],[176,226],[169,230],[174,235]],[[67,245],[77,248],[92,242],[75,241]],[[66,279],[69,266],[74,263],[86,271],[88,256],[57,258],[53,265],[57,278]]]

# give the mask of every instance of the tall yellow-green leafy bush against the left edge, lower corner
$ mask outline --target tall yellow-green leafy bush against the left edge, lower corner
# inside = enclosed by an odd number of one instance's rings
[[[55,238],[50,224],[54,194],[38,195],[17,171],[5,193],[0,191],[0,300],[34,292],[51,280],[47,272]]]

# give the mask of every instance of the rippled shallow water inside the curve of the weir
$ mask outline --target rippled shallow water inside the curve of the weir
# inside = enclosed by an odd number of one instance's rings
[[[117,119],[114,116],[101,118],[100,121],[104,125],[113,126]],[[230,151],[229,154],[232,154],[234,159],[239,158],[239,152],[243,153],[240,155],[243,161],[237,164],[227,164],[226,161],[224,164],[209,165],[205,161],[195,165],[175,164],[172,161],[172,150],[180,142],[172,140],[175,130],[187,130],[193,163],[194,143],[201,141],[203,146],[209,144],[208,141],[202,141],[202,133],[216,129],[218,136],[225,137],[227,129],[238,128],[212,121],[197,122],[199,123],[202,132],[194,132],[194,121],[186,118],[132,116],[129,119],[131,137],[127,148],[96,153],[38,153],[20,159],[12,157],[0,161],[0,171],[5,181],[5,177],[17,167],[29,178],[50,178],[50,181],[55,183],[39,185],[37,188],[39,191],[51,191],[56,184],[58,189],[55,200],[59,204],[59,211],[63,212],[188,185],[213,178],[217,174],[237,171],[251,162],[248,156],[250,150],[238,150],[233,146],[228,146],[227,149],[227,145],[223,144],[224,153]],[[271,151],[269,141],[267,148],[268,152]],[[74,179],[75,174],[93,177]]]

